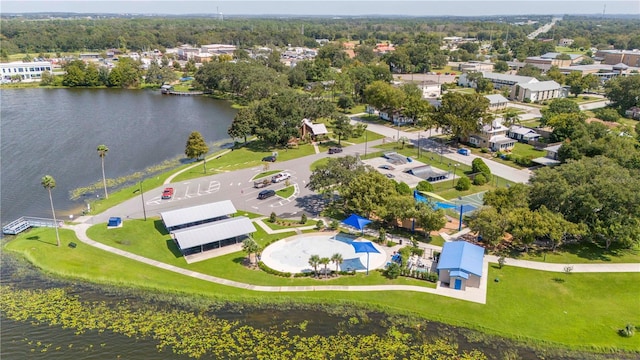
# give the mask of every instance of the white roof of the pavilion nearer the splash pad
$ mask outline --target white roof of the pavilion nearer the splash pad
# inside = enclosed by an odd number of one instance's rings
[[[236,236],[251,234],[256,231],[255,226],[246,216],[238,216],[212,223],[175,230],[175,236],[180,249],[210,244],[216,241],[230,239]]]

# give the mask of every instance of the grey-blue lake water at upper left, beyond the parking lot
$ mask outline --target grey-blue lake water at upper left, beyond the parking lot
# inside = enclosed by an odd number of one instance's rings
[[[100,144],[109,147],[106,176],[117,178],[184,158],[192,131],[202,133],[210,151],[228,145],[235,113],[224,101],[152,90],[2,89],[0,222],[51,217],[40,185],[47,174],[57,183],[56,215],[78,214],[88,199],[71,201],[69,193],[102,179]]]

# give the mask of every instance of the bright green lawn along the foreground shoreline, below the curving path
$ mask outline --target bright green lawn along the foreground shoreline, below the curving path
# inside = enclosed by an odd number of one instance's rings
[[[138,232],[158,232],[152,221],[144,226],[125,223],[127,234],[107,232],[106,226],[91,229],[92,236],[108,236],[104,242],[132,251],[149,252],[161,249],[168,263],[184,267],[186,264],[167,249],[168,236],[159,236],[152,244],[122,245],[117,238]],[[115,229],[119,230],[119,229]],[[75,241],[68,230],[61,231],[63,243]],[[56,247],[52,229],[36,229],[10,241],[5,250],[22,254],[45,272],[93,282],[172,293],[198,294],[211,298],[258,302],[323,302],[351,303],[392,313],[416,314],[451,325],[478,329],[490,334],[523,340],[539,346],[558,345],[591,351],[626,350],[639,352],[640,336],[623,338],[617,330],[631,322],[640,323],[640,273],[630,274],[560,274],[505,266],[490,266],[487,277],[486,305],[413,292],[304,292],[260,293],[222,285],[210,284],[182,275],[159,270],[133,260],[106,253],[78,243],[74,249]],[[147,249],[145,249],[145,247]],[[133,251],[132,251],[133,252]],[[194,264],[193,270],[212,273],[230,279],[260,284],[370,284],[385,283],[377,272],[370,276],[345,277],[336,280],[284,279],[249,270],[240,263],[244,254],[235,253],[218,259]],[[493,279],[499,279],[499,282]],[[410,279],[405,279],[406,281]]]

